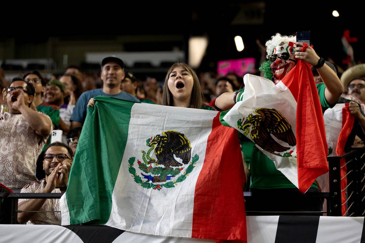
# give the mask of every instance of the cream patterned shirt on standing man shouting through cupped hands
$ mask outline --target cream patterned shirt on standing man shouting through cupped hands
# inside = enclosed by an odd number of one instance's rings
[[[22,114],[0,114],[0,183],[14,189],[36,180],[37,158],[49,135],[38,135]]]

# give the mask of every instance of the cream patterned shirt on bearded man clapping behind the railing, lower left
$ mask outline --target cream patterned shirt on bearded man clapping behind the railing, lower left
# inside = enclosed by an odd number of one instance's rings
[[[26,185],[21,193],[37,193],[46,187],[46,179],[33,181]],[[61,192],[59,188],[55,188],[52,193]],[[19,199],[18,203],[28,201],[29,199]],[[61,211],[59,199],[46,199],[45,203],[39,211]],[[61,213],[36,213],[26,224],[58,224],[61,225]]]

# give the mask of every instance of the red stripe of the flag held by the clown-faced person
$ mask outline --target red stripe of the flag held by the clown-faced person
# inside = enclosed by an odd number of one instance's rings
[[[299,191],[304,193],[316,177],[328,171],[323,114],[310,64],[298,60],[281,80],[297,102],[296,141]]]

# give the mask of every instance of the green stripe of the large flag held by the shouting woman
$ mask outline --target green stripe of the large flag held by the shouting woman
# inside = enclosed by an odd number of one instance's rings
[[[94,107],[88,107],[69,175],[70,224],[107,223],[135,104],[101,95],[95,101]]]

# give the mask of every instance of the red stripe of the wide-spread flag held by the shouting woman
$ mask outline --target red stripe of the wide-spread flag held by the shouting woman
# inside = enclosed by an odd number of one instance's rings
[[[245,173],[237,130],[223,126],[218,113],[208,136],[204,164],[196,182],[192,238],[247,242]]]

